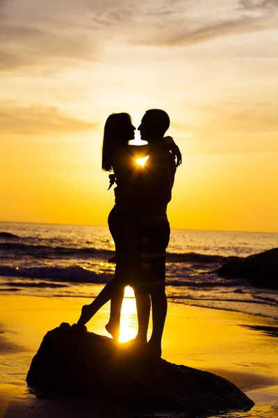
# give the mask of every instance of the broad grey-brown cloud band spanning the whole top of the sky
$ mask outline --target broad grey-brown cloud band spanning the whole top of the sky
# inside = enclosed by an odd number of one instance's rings
[[[0,70],[101,61],[106,46],[195,45],[277,27],[278,0],[2,0]],[[233,5],[233,7],[231,7]]]

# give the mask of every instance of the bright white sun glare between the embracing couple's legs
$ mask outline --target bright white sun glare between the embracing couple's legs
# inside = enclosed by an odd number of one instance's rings
[[[136,337],[137,314],[136,302],[133,289],[126,286],[124,291],[124,301],[122,302],[121,323],[120,323],[120,343],[129,341]]]

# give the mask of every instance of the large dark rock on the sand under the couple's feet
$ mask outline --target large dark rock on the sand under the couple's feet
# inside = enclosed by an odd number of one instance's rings
[[[123,346],[63,323],[44,336],[28,371],[28,387],[56,396],[103,398],[136,410],[179,410],[198,417],[254,405],[220,376],[160,358],[142,359]]]

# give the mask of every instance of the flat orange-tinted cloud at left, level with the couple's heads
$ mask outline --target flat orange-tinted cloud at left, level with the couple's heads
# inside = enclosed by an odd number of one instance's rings
[[[10,103],[2,103],[0,106],[1,134],[71,134],[74,132],[88,132],[97,126],[98,123],[67,116],[56,107],[20,107]]]

